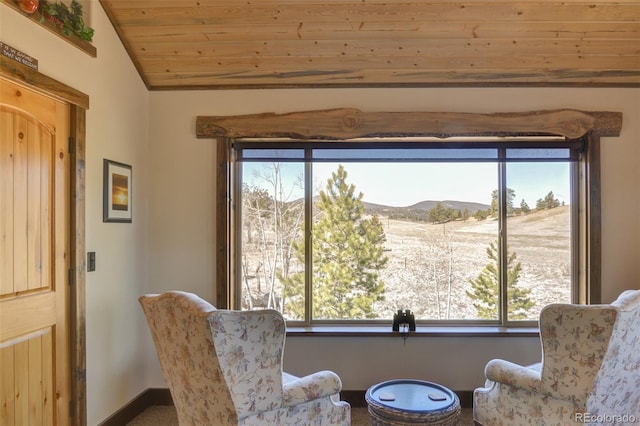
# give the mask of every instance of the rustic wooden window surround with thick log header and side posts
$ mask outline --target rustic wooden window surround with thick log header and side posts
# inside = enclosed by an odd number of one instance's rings
[[[365,124],[362,124],[365,123]],[[196,135],[213,138],[216,144],[216,260],[215,303],[219,308],[233,308],[233,264],[235,247],[230,231],[234,212],[231,203],[231,142],[234,138],[303,137],[315,135],[325,139],[343,137],[433,136],[523,136],[558,135],[585,137],[585,150],[580,162],[578,190],[580,215],[577,220],[579,235],[579,262],[573,265],[579,275],[578,303],[595,304],[601,301],[601,182],[600,142],[602,136],[619,136],[622,113],[588,112],[576,110],[532,111],[505,114],[431,113],[431,112],[377,112],[364,113],[354,109],[306,111],[290,114],[257,114],[244,116],[199,116]],[[338,130],[336,130],[338,129]],[[355,130],[354,130],[355,129]],[[443,129],[458,129],[446,131]],[[319,330],[298,330],[313,335]],[[373,328],[359,330],[328,330],[329,334],[379,333]],[[475,335],[473,331],[469,331]],[[385,332],[386,333],[386,332]],[[446,331],[436,331],[438,335]],[[463,333],[466,333],[463,331]],[[509,335],[503,327],[483,330],[482,335]]]

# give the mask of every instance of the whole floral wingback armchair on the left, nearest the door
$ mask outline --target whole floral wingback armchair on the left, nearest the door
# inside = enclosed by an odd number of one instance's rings
[[[179,291],[139,301],[181,426],[350,424],[335,373],[282,371],[279,312],[219,310]]]

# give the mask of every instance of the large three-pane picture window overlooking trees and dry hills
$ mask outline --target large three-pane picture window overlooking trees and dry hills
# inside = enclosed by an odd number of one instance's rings
[[[578,300],[582,140],[235,140],[235,304],[531,325]]]

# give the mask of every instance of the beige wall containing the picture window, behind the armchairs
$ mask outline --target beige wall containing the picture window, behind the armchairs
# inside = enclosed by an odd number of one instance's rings
[[[153,182],[183,188],[180,202],[154,192],[153,211],[175,216],[168,221],[151,218],[153,229],[149,252],[153,261],[153,285],[159,291],[186,288],[213,298],[214,272],[194,264],[212,256],[211,241],[198,235],[197,228],[212,235],[214,200],[209,185],[215,181],[214,141],[195,138],[198,115],[235,115],[260,112],[355,107],[363,111],[451,111],[518,112],[556,108],[622,111],[623,130],[619,138],[602,143],[602,234],[603,299],[611,301],[624,289],[640,288],[640,90],[569,88],[465,88],[465,89],[290,89],[214,92],[152,92],[150,95],[151,139],[154,145]],[[188,126],[188,127],[187,127]],[[163,170],[184,164],[182,173],[162,177]],[[185,171],[188,171],[185,173]],[[176,182],[178,179],[179,182]],[[191,188],[191,189],[188,189]],[[191,192],[193,191],[193,192]],[[184,206],[190,206],[185,209]],[[202,221],[200,221],[202,220]],[[194,223],[197,221],[197,223]],[[183,229],[180,224],[187,225]],[[182,240],[189,246],[175,249],[164,244]],[[154,241],[158,239],[158,241]],[[185,253],[187,250],[188,253]],[[171,261],[175,256],[175,261]],[[185,268],[185,257],[192,257]],[[212,257],[210,257],[212,258]],[[212,264],[208,265],[210,268]],[[177,270],[188,276],[174,282]],[[171,278],[169,278],[171,277]],[[212,299],[209,299],[212,300]],[[149,352],[153,351],[147,339]],[[285,351],[285,368],[294,374],[322,369],[339,373],[344,389],[364,390],[390,378],[413,377],[435,380],[456,390],[472,390],[483,383],[483,370],[491,358],[519,363],[539,360],[540,345],[532,338],[410,338],[406,346],[398,338],[290,337]],[[398,360],[402,360],[399,362]],[[157,364],[149,364],[150,386],[163,386]]]

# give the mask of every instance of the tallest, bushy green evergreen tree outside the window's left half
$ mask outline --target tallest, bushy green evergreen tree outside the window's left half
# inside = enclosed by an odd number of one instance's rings
[[[320,191],[319,218],[313,225],[312,287],[313,317],[323,319],[373,318],[373,303],[384,300],[385,286],[379,271],[387,263],[386,237],[377,216],[366,218],[362,193],[346,182],[340,165]],[[304,264],[304,240],[294,244]],[[285,312],[304,314],[304,272],[284,281]]]

